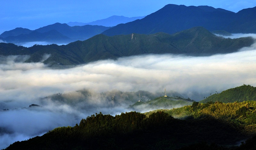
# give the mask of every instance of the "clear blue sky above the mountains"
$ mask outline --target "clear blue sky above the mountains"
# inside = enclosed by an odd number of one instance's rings
[[[145,16],[166,4],[208,5],[238,12],[256,6],[255,0],[0,0],[0,34],[17,27],[36,29],[56,22],[91,22],[113,15]]]

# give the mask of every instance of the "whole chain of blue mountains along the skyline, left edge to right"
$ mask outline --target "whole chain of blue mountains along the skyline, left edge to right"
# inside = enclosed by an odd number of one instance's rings
[[[111,16],[107,19],[86,23],[91,25],[69,22],[68,24],[55,23],[36,30],[15,28],[2,33],[0,40],[19,45],[35,41],[70,43],[77,40],[84,41],[101,33],[107,36],[132,33],[149,35],[158,32],[173,34],[198,26],[213,33],[224,33],[225,35],[228,33],[256,33],[255,14],[256,7],[235,13],[210,6],[168,4],[146,17]]]

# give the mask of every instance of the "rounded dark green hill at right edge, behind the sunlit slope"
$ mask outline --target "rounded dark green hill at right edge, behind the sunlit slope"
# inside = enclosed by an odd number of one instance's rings
[[[242,102],[245,100],[256,100],[256,87],[244,84],[236,88],[222,91],[219,94],[213,94],[206,99],[201,100],[200,103],[207,103],[210,101],[229,103],[235,101]]]

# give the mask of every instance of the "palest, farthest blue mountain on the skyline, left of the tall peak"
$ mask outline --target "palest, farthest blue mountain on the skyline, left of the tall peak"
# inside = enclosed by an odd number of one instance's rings
[[[142,19],[145,16],[142,17],[124,17],[124,16],[111,16],[106,19],[96,20],[88,23],[82,23],[82,22],[68,22],[67,24],[71,27],[73,26],[84,26],[84,25],[98,25],[98,26],[105,26],[105,27],[114,27],[121,23],[127,23],[131,22],[137,19]]]

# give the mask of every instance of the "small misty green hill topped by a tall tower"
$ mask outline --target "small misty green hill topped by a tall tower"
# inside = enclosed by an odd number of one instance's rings
[[[191,99],[184,99],[178,96],[174,97],[158,97],[152,100],[140,100],[130,105],[128,109],[132,109],[134,111],[145,112],[148,110],[155,110],[155,109],[172,109],[177,107],[182,107],[185,105],[191,105],[194,100]]]

